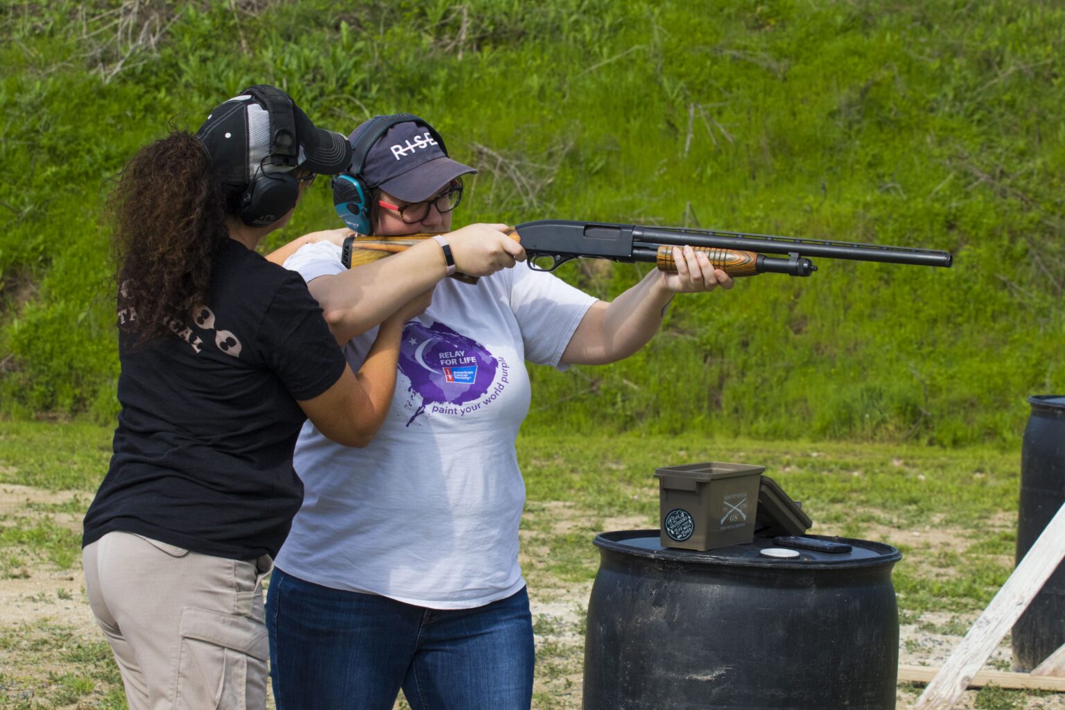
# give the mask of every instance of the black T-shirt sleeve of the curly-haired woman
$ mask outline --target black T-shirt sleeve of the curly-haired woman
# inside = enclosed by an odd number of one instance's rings
[[[259,330],[263,360],[294,399],[313,399],[331,387],[347,367],[329,332],[322,308],[298,274],[278,288]]]

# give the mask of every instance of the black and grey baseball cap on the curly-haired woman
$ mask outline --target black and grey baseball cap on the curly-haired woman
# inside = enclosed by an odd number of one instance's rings
[[[289,122],[295,135],[280,144],[286,150],[279,150],[275,136]],[[351,146],[343,135],[315,127],[288,94],[274,86],[252,86],[219,104],[196,135],[229,185],[250,184],[260,169],[283,172],[301,167],[333,175],[351,162]]]

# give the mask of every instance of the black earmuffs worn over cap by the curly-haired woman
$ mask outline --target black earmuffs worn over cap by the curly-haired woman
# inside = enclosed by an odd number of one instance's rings
[[[259,101],[269,116],[271,165],[296,167],[299,145],[296,143],[296,117],[292,99],[273,86],[259,84],[244,89]],[[289,172],[261,172],[256,166],[255,176],[241,195],[241,220],[249,227],[265,227],[284,216],[296,207],[299,183]]]

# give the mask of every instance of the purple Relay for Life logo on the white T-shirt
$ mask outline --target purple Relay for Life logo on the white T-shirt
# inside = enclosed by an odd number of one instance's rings
[[[422,399],[407,426],[427,408],[430,414],[471,414],[491,403],[507,383],[507,364],[502,358],[492,357],[480,343],[442,323],[424,326],[412,320],[406,325],[399,371],[410,380],[410,391]],[[493,389],[497,373],[501,381]]]

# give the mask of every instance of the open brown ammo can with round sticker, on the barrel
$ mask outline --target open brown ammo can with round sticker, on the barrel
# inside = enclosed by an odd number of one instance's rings
[[[656,469],[662,547],[705,551],[751,542],[765,469],[712,461]]]

